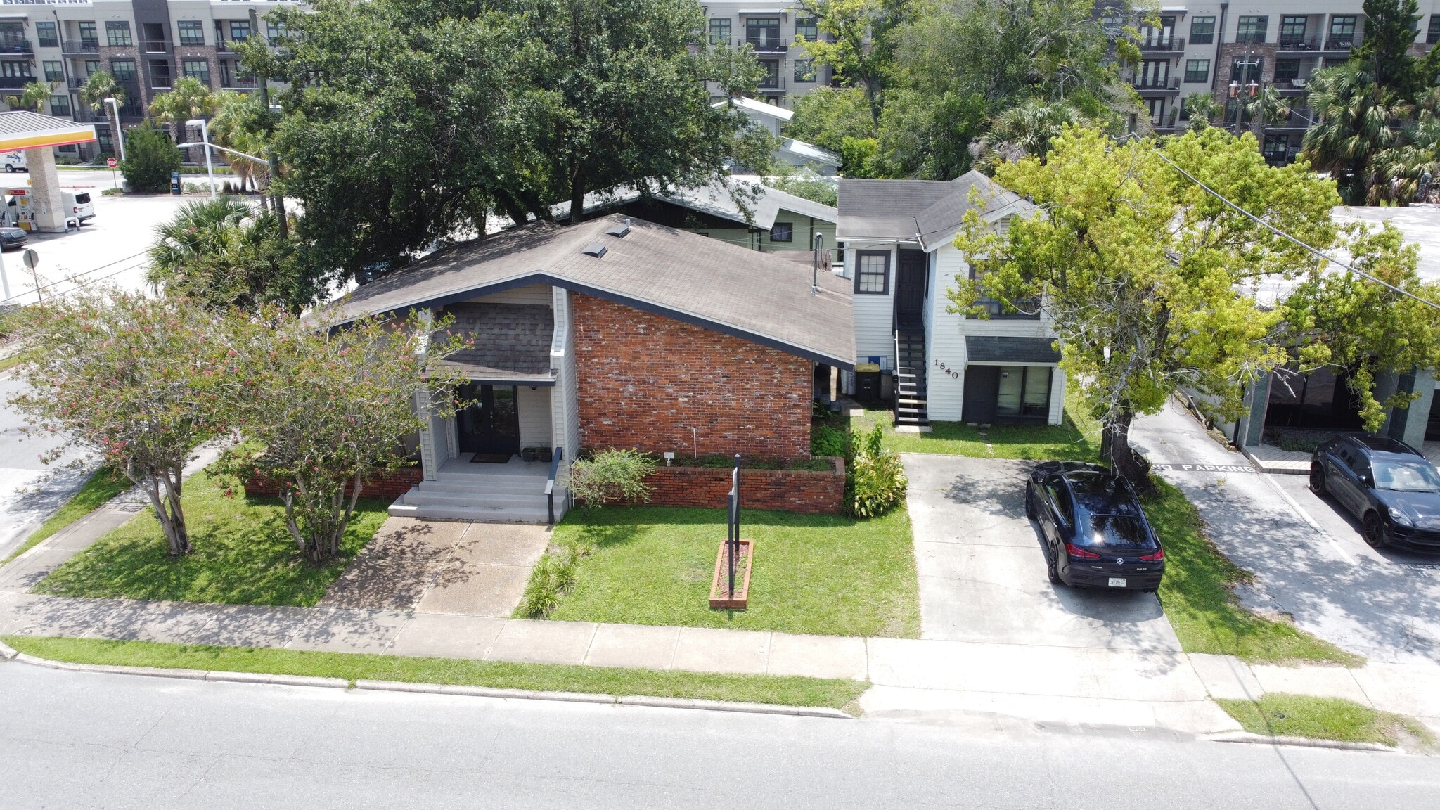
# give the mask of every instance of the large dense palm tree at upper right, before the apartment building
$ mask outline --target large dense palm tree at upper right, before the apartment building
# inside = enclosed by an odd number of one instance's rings
[[[1407,117],[1410,105],[1354,62],[1318,71],[1306,89],[1319,121],[1305,133],[1302,156],[1345,186],[1346,202],[1362,203],[1374,184],[1371,157],[1397,143],[1391,123]]]

